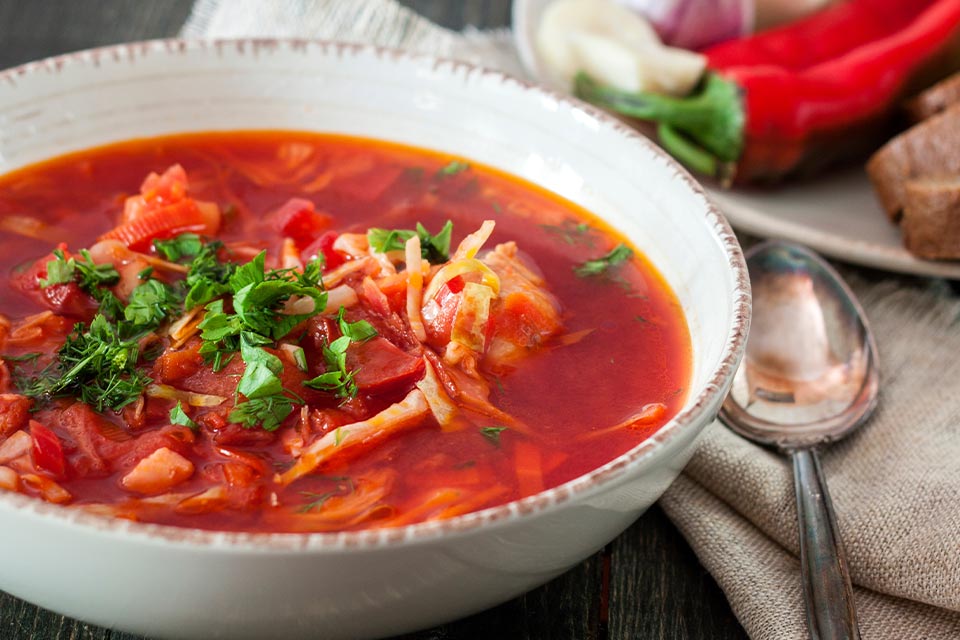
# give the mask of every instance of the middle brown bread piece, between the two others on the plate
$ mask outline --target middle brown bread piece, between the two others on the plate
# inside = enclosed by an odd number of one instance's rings
[[[867,174],[891,220],[906,201],[906,184],[927,176],[960,176],[960,103],[914,125],[874,153]]]

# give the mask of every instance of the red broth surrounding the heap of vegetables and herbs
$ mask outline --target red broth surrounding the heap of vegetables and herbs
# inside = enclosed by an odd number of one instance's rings
[[[41,326],[38,334],[24,326],[36,324],[36,314],[49,305],[25,294],[17,282],[34,265],[46,264],[58,243],[74,255],[93,246],[117,225],[125,199],[137,194],[147,174],[178,163],[186,171],[189,196],[219,205],[223,223],[217,238],[228,247],[244,247],[245,257],[230,258],[236,262],[265,249],[268,263],[276,264],[283,243],[276,212],[291,198],[315,205],[320,217],[313,220],[325,228],[304,231],[313,236],[363,234],[370,227],[413,229],[418,222],[436,232],[450,220],[451,252],[482,221],[493,220],[495,230],[480,255],[515,241],[529,259],[525,264],[536,265],[558,302],[560,326],[509,366],[480,361],[479,379],[504,419],[490,410],[464,410],[463,419],[444,428],[427,415],[327,459],[289,483],[278,480],[295,466],[296,453],[302,456],[312,443],[349,429],[344,425],[402,401],[423,377],[422,365],[399,386],[361,390],[354,399],[308,391],[313,400],[294,406],[272,432],[225,426],[230,414],[223,408],[189,403],[182,406],[199,426],[171,427],[176,403],[156,397],[99,413],[73,397],[41,398],[26,415],[15,394],[31,365],[19,357],[39,350],[47,354],[40,362],[49,359],[64,334],[62,327],[57,333]],[[6,408],[0,411],[0,461],[7,468],[0,468],[0,484],[7,478],[7,489],[53,502],[122,518],[236,531],[351,530],[449,518],[549,489],[612,460],[667,422],[687,393],[689,333],[676,298],[656,270],[634,253],[599,275],[578,275],[578,265],[603,256],[623,238],[539,187],[466,160],[360,138],[291,132],[137,140],[4,176],[0,217],[0,272],[10,280],[0,287],[10,374],[0,381],[9,394],[2,397]],[[156,255],[150,247],[143,252]],[[390,303],[403,317],[402,262],[397,271]],[[182,274],[164,277],[174,282]],[[361,288],[356,279],[353,285]],[[177,351],[164,335],[172,319],[159,329],[164,353]],[[409,335],[410,324],[404,322]],[[310,339],[304,337],[307,330],[296,331],[301,340]],[[424,349],[438,352],[438,359],[444,355],[430,346],[399,347],[417,357]],[[148,358],[156,353],[147,351],[139,366],[156,378],[158,365]],[[323,362],[319,351],[310,357],[308,376],[327,370],[326,363],[315,362]],[[243,371],[228,365],[213,374],[209,363],[201,369],[194,380],[233,375],[229,385]],[[237,400],[230,397],[226,404]],[[29,447],[5,459],[3,447],[14,449],[18,432],[30,435]],[[53,445],[44,440],[51,433]],[[176,451],[192,469],[162,489],[131,490],[126,476],[161,446]],[[56,457],[57,447],[62,470],[48,459]]]

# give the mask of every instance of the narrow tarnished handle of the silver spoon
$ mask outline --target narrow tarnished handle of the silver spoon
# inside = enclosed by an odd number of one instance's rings
[[[811,640],[858,640],[847,557],[815,449],[797,449],[793,479],[800,525],[800,567]]]

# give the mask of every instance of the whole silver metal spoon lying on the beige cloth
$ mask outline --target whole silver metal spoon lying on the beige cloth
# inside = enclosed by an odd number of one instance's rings
[[[814,253],[766,242],[747,252],[747,268],[750,337],[720,418],[793,459],[810,637],[858,639],[847,560],[817,449],[876,407],[877,347],[853,293]]]

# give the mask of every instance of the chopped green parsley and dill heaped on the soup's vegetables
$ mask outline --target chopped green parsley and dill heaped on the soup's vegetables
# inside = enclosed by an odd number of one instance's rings
[[[419,225],[412,233],[424,234],[434,243],[430,245],[434,250],[449,248],[449,223],[436,237]],[[279,428],[303,399],[283,387],[283,363],[273,349],[294,327],[326,305],[322,259],[307,263],[302,272],[267,269],[266,252],[237,265],[221,261],[221,242],[205,243],[196,234],[157,241],[154,246],[167,260],[185,265],[186,277],[167,283],[154,278],[153,268],[147,267],[138,274],[141,283],[130,292],[126,304],[110,289],[120,280],[113,265],[95,264],[86,250],[70,258],[62,249],[54,251],[41,286],[76,282],[100,303],[99,313],[89,327],[82,323],[74,327],[48,365],[36,365],[39,355],[21,358],[17,368],[21,391],[39,400],[74,397],[101,412],[108,408],[119,411],[141,397],[151,382],[143,362],[159,355],[155,349],[141,352],[140,339],[202,305],[200,353],[212,363],[214,371],[222,371],[236,355],[244,362],[243,375],[237,381],[237,403],[228,419],[267,431]],[[346,369],[346,349],[377,332],[366,320],[348,322],[343,308],[337,324],[343,337],[323,352],[328,373],[312,382],[315,388],[347,398],[356,395],[357,388],[355,372]],[[154,342],[162,349],[162,342]],[[306,371],[306,353],[302,347],[292,346],[290,355],[296,366]],[[29,371],[24,373],[23,369]],[[170,422],[197,426],[180,402],[170,410]]]

